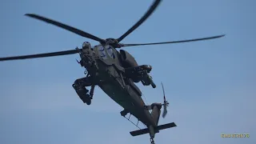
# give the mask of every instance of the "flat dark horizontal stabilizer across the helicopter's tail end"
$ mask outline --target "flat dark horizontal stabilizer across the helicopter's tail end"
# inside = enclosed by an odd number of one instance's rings
[[[160,125],[160,126],[156,127],[155,131],[158,132],[159,130],[164,130],[164,129],[168,129],[168,128],[175,127],[175,126],[176,126],[176,124],[174,122],[171,122],[171,123],[167,123],[167,124]],[[132,136],[138,136],[138,135],[142,135],[142,134],[148,134],[149,132],[150,132],[150,130],[148,128],[146,128],[146,129],[142,129],[142,130],[131,131],[130,134]]]

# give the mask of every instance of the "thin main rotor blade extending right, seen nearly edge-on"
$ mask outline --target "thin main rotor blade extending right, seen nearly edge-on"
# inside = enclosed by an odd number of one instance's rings
[[[122,47],[126,47],[126,46],[159,45],[159,44],[181,43],[181,42],[195,42],[195,41],[203,41],[203,40],[214,39],[214,38],[221,38],[221,37],[224,37],[224,36],[225,36],[225,34],[218,35],[218,36],[214,36],[214,37],[187,39],[187,40],[172,41],[172,42],[154,42],[154,43],[122,44]]]

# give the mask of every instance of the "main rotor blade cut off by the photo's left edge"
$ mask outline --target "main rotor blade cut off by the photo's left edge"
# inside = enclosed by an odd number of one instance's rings
[[[18,59],[26,59],[26,58],[54,57],[54,56],[60,56],[60,55],[76,54],[78,52],[79,52],[78,50],[66,50],[66,51],[58,51],[54,53],[22,55],[22,56],[15,56],[15,57],[0,58],[0,61],[10,61],[10,60],[18,60]]]

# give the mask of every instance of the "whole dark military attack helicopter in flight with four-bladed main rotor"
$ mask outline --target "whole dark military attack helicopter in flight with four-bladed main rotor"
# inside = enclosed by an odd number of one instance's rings
[[[163,104],[153,103],[150,106],[146,106],[141,98],[141,90],[139,90],[138,86],[136,86],[134,83],[142,82],[144,86],[152,86],[153,88],[155,88],[156,85],[154,84],[153,79],[150,76],[152,66],[139,66],[134,57],[126,50],[118,51],[117,49],[127,46],[146,46],[178,42],[194,42],[213,38],[221,38],[224,36],[218,35],[214,37],[196,38],[173,42],[154,42],[141,44],[120,43],[124,38],[126,38],[127,35],[132,33],[135,29],[138,28],[138,26],[142,25],[142,23],[150,17],[150,15],[158,7],[160,2],[162,1],[154,0],[153,4],[150,6],[150,9],[146,11],[146,14],[144,14],[142,18],[140,18],[139,21],[134,24],[134,26],[127,30],[125,34],[122,34],[120,38],[98,38],[92,34],[88,34],[72,26],[67,26],[66,24],[63,24],[61,22],[51,20],[50,18],[45,18],[37,14],[25,14],[30,18],[36,18],[43,22],[48,22],[54,26],[69,30],[74,34],[78,34],[82,37],[98,41],[99,44],[98,46],[91,46],[90,42],[83,42],[82,49],[79,49],[77,47],[74,50],[58,51],[54,53],[0,58],[0,61],[79,54],[81,60],[78,63],[86,69],[86,77],[78,78],[74,81],[74,84],[72,86],[74,87],[74,90],[78,94],[79,98],[82,99],[82,102],[90,105],[91,100],[94,96],[94,87],[99,86],[110,98],[114,100],[114,102],[117,102],[120,106],[124,108],[124,110],[120,112],[123,117],[126,118],[126,114],[130,113],[134,115],[134,117],[138,118],[138,122],[140,121],[146,126],[146,129],[135,130],[130,132],[130,134],[133,136],[137,136],[149,133],[150,142],[151,144],[154,144],[154,135],[158,133],[159,130],[176,126],[174,122],[158,126],[158,120],[160,118],[162,106],[164,107],[162,115],[162,117],[164,118],[167,113],[166,106],[168,106],[169,103],[166,102],[164,94]],[[91,86],[90,91],[86,89],[87,86]],[[152,111],[150,112],[150,110]],[[127,119],[130,120],[130,117]],[[136,126],[138,126],[138,123]]]

